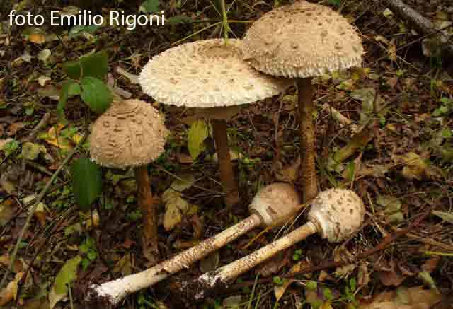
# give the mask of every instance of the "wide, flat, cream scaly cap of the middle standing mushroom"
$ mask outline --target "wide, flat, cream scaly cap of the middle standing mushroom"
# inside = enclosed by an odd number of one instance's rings
[[[145,93],[161,103],[217,107],[253,103],[285,91],[291,81],[265,76],[244,62],[241,40],[200,40],[154,56],[139,75]]]

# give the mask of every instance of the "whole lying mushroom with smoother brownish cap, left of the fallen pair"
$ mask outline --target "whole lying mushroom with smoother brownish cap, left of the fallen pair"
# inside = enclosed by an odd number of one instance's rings
[[[251,215],[248,218],[143,272],[103,284],[93,284],[88,290],[86,299],[90,303],[103,305],[103,308],[115,306],[127,294],[147,288],[189,267],[190,264],[219,250],[252,228],[285,223],[291,216],[297,214],[302,206],[299,194],[292,185],[279,182],[263,187],[251,202]]]

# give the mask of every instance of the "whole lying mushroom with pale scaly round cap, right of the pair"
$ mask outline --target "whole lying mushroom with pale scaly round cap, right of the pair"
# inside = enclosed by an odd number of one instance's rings
[[[200,300],[214,289],[227,288],[237,276],[264,262],[281,250],[291,247],[311,234],[319,233],[331,243],[350,237],[362,225],[365,206],[362,199],[345,189],[329,189],[314,199],[308,214],[309,221],[275,242],[242,257],[235,262],[202,274],[198,279],[183,284],[183,288],[197,291],[194,298]]]

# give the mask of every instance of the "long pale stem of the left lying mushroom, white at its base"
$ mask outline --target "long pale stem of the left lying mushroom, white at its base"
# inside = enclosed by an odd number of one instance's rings
[[[103,284],[93,284],[88,290],[87,301],[91,303],[102,303],[102,305],[107,307],[115,306],[127,294],[147,288],[166,279],[171,274],[189,267],[193,262],[218,250],[220,247],[226,245],[226,243],[235,240],[240,235],[256,228],[261,223],[262,221],[258,214],[251,214],[248,218],[227,228],[222,233],[219,233],[212,238],[208,238],[207,240],[202,241],[202,243],[195,245],[195,247],[191,247],[172,257],[170,260],[161,262],[143,272],[131,274]]]

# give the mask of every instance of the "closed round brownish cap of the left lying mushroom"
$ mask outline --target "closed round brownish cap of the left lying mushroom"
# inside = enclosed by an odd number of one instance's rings
[[[301,208],[302,199],[292,185],[275,182],[261,188],[253,197],[250,211],[261,217],[263,226],[286,223]]]

